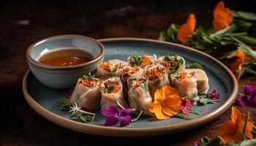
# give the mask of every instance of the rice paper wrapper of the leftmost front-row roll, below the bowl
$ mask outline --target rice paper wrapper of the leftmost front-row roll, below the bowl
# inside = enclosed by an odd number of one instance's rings
[[[78,79],[75,85],[75,90],[70,97],[70,102],[78,104],[78,107],[85,107],[89,110],[99,109],[99,102],[101,99],[99,85],[94,88],[89,88],[86,85],[80,83],[81,79]]]

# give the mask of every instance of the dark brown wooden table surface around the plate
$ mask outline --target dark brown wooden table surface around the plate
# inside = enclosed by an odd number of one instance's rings
[[[42,118],[23,98],[22,80],[28,70],[25,52],[31,43],[59,34],[81,34],[95,39],[142,37],[157,39],[170,23],[183,23],[190,12],[197,25],[211,26],[217,1],[24,1],[1,2],[0,6],[0,145],[134,145],[138,142],[193,145],[200,137],[214,137],[217,126],[230,119],[230,110],[216,120],[180,134],[150,138],[116,138],[82,134]],[[227,7],[255,11],[244,1],[227,1]],[[256,85],[255,76],[239,81]],[[251,112],[256,123],[256,109]]]

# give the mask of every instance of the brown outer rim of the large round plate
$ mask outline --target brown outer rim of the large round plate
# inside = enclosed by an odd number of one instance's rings
[[[173,45],[176,47],[183,47],[187,50],[191,50],[192,52],[199,53],[200,55],[204,55],[208,58],[211,58],[214,62],[222,66],[233,80],[233,91],[231,92],[227,100],[224,103],[222,103],[216,110],[209,112],[207,115],[203,115],[194,120],[187,120],[183,123],[176,123],[176,124],[170,124],[165,126],[146,127],[146,128],[122,128],[122,127],[96,126],[89,123],[80,123],[75,120],[70,120],[68,118],[61,117],[59,115],[54,114],[53,112],[50,112],[49,110],[46,110],[39,103],[37,103],[37,101],[35,101],[34,98],[29,94],[29,91],[27,88],[27,79],[29,77],[29,74],[31,74],[31,71],[28,70],[25,76],[23,77],[22,86],[23,86],[23,95],[26,101],[28,102],[29,106],[32,107],[32,109],[34,109],[39,115],[46,118],[47,120],[50,120],[51,122],[56,123],[59,126],[63,126],[65,128],[69,128],[75,131],[80,131],[87,134],[97,134],[97,135],[115,136],[115,137],[146,137],[146,136],[156,136],[159,134],[172,134],[172,133],[186,131],[188,129],[201,126],[219,117],[219,115],[222,115],[223,112],[225,112],[228,108],[231,107],[231,105],[233,104],[233,101],[235,101],[236,99],[236,95],[238,93],[238,82],[236,81],[236,77],[233,75],[230,69],[228,69],[227,66],[222,64],[220,61],[218,61],[216,58],[212,57],[211,55],[203,53],[199,50],[195,50],[192,47],[179,45],[173,42],[164,42],[164,41],[159,41],[155,39],[142,39],[142,38],[133,38],[133,37],[98,39],[98,41],[102,43],[120,42],[120,41],[154,42],[161,45],[164,44],[164,45]]]

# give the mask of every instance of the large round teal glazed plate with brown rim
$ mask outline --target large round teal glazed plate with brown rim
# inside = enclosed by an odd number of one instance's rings
[[[127,61],[129,55],[152,55],[157,56],[170,54],[181,55],[187,64],[200,63],[208,75],[210,90],[217,88],[220,100],[217,104],[206,106],[195,106],[200,115],[191,114],[192,120],[181,118],[170,118],[167,120],[156,120],[153,117],[141,117],[135,123],[126,127],[104,126],[105,117],[99,112],[91,123],[80,123],[69,118],[70,112],[62,112],[61,98],[69,90],[58,90],[48,88],[28,71],[23,79],[23,93],[29,105],[42,115],[42,117],[74,131],[87,134],[97,134],[115,137],[147,137],[160,134],[172,134],[186,131],[190,128],[202,126],[222,115],[236,99],[238,83],[232,72],[217,59],[198,50],[170,42],[161,42],[153,39],[138,38],[113,38],[99,39],[105,46],[104,61],[110,59],[121,59]]]

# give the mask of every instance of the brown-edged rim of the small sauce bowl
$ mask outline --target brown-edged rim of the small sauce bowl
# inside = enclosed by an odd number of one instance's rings
[[[100,54],[91,61],[88,61],[88,62],[83,63],[83,64],[78,64],[78,65],[75,65],[75,66],[48,66],[46,64],[39,63],[39,61],[36,61],[34,58],[31,57],[30,53],[31,53],[32,48],[35,47],[39,42],[46,41],[48,39],[61,39],[61,38],[68,38],[68,37],[69,38],[89,39],[92,42],[95,42],[97,45],[99,45]],[[29,61],[31,64],[33,64],[34,66],[37,66],[39,68],[52,69],[52,70],[56,70],[56,69],[78,69],[80,67],[88,66],[88,65],[91,65],[91,64],[94,64],[94,63],[100,61],[104,57],[104,55],[105,55],[105,47],[102,45],[101,42],[99,42],[97,39],[92,39],[91,37],[86,37],[86,36],[82,36],[82,35],[78,35],[78,34],[62,34],[62,35],[57,35],[57,36],[52,36],[52,37],[45,37],[44,39],[40,39],[37,42],[34,42],[33,44],[31,44],[26,50],[26,59],[27,59],[27,61]]]

